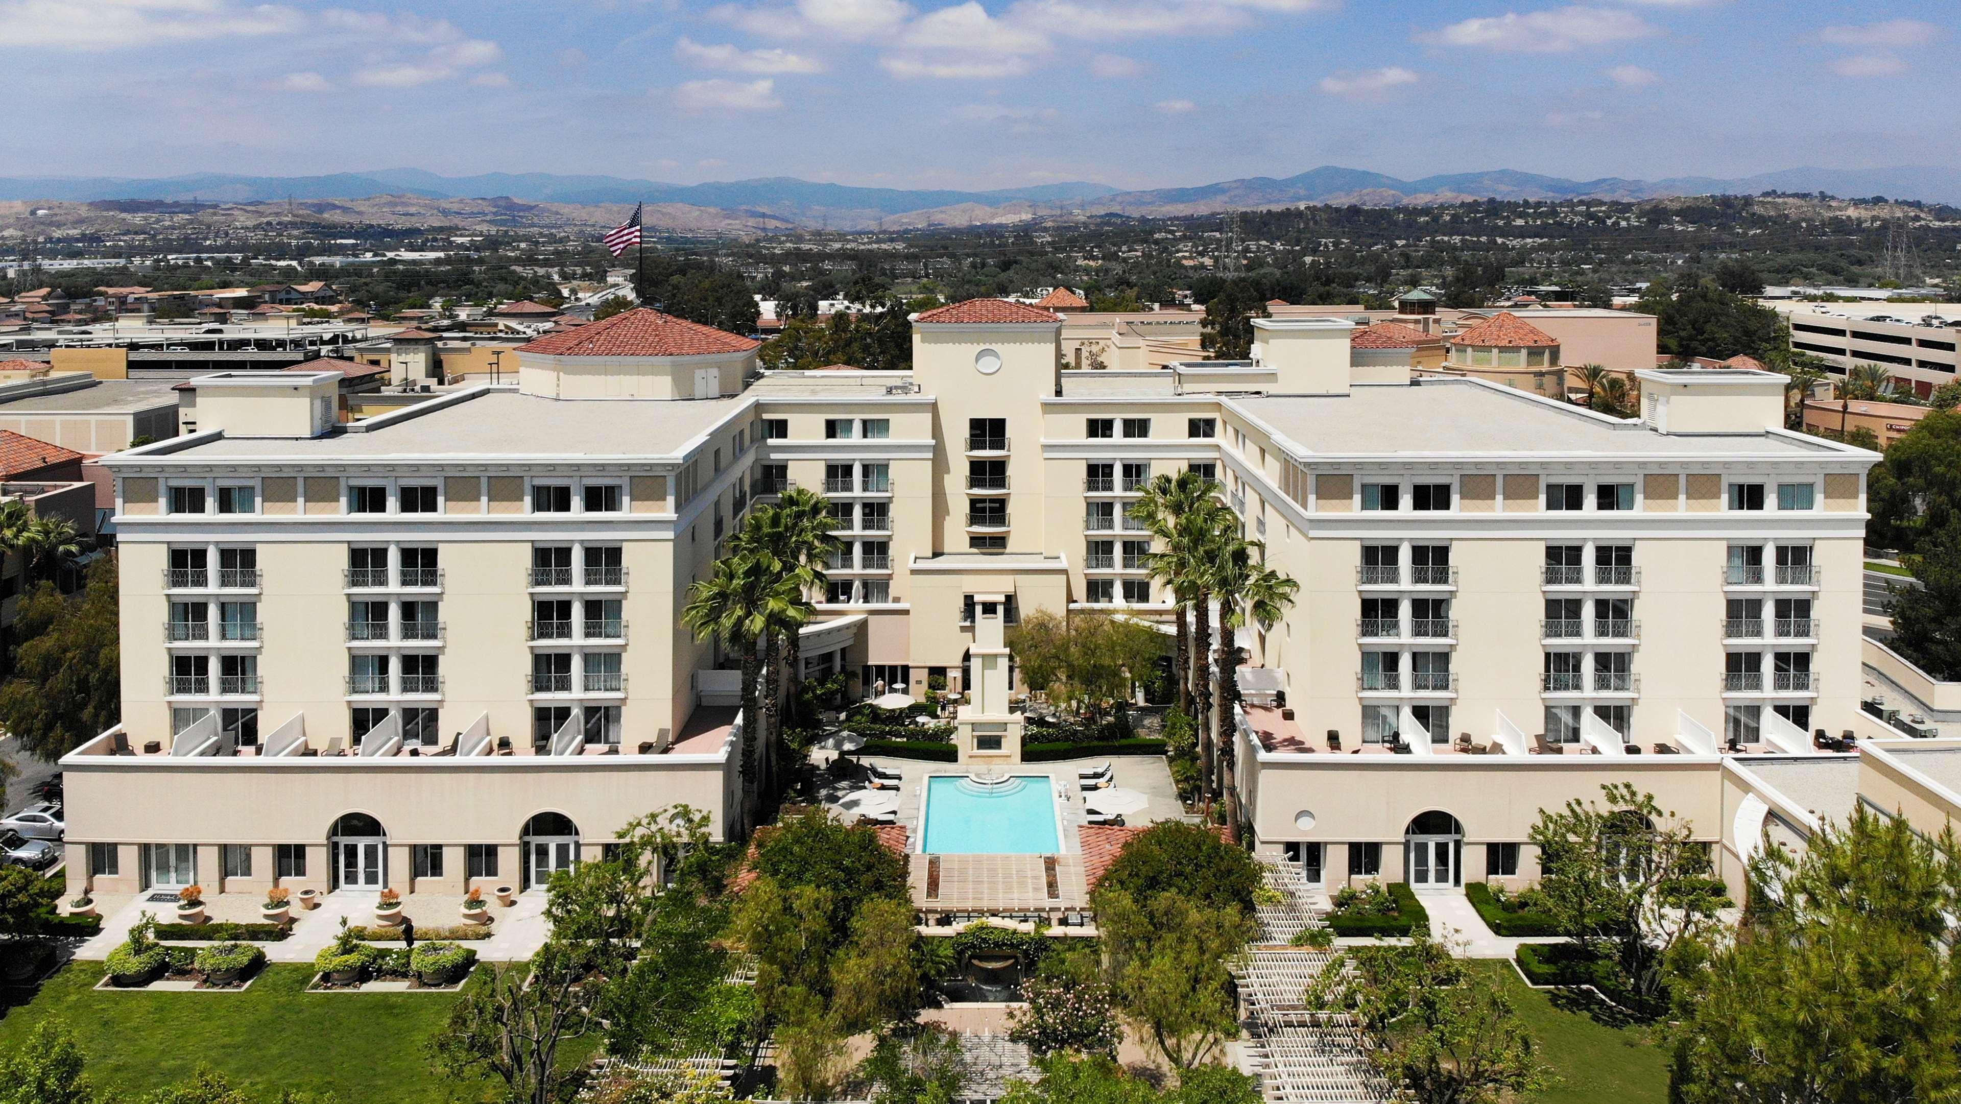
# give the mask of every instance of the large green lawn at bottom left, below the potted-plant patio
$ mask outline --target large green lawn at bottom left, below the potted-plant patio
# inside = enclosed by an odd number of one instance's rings
[[[59,1018],[110,1098],[188,1079],[200,1065],[253,1096],[333,1092],[388,1104],[478,1102],[488,1082],[429,1069],[424,1043],[447,1022],[453,994],[304,992],[312,967],[275,965],[245,992],[96,992],[102,963],[73,963],[0,1018],[0,1049]]]

